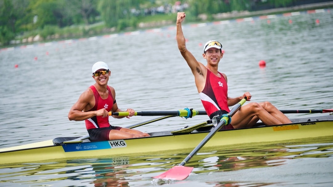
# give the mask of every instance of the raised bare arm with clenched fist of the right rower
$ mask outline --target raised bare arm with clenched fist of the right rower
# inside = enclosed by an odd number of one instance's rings
[[[204,87],[204,81],[207,73],[206,67],[199,63],[195,57],[192,55],[191,52],[189,52],[186,49],[186,42],[185,37],[181,28],[181,22],[185,19],[185,13],[184,12],[178,12],[177,13],[177,21],[176,21],[176,40],[178,44],[178,49],[180,51],[180,54],[183,56],[185,61],[187,62],[187,65],[190,67],[192,74],[194,75],[195,84],[198,89],[198,92],[201,92]]]

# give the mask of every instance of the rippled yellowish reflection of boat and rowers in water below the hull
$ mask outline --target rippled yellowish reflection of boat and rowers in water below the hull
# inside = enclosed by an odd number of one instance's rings
[[[186,166],[194,167],[186,180],[203,180],[206,184],[215,184],[215,186],[269,185],[271,183],[253,184],[250,182],[244,184],[240,181],[225,181],[224,178],[217,178],[219,180],[216,180],[216,176],[219,176],[219,172],[222,172],[232,179],[234,177],[233,172],[241,170],[279,167],[294,159],[332,157],[332,139],[333,137],[324,137],[321,139],[302,139],[295,143],[277,142],[253,146],[242,144],[224,148],[203,148],[186,164]],[[70,186],[71,184],[78,185],[77,181],[80,181],[82,185],[94,185],[96,187],[151,185],[152,176],[179,164],[190,151],[185,150],[181,154],[172,155],[161,153],[160,155],[145,157],[74,159],[54,163],[1,166],[0,186],[19,184],[38,184],[41,186],[65,186],[64,184],[66,184],[66,186]],[[306,165],[299,169],[311,170]],[[322,169],[325,170],[325,167]],[[293,174],[290,173],[290,175]],[[215,178],[215,182],[211,181],[212,178]],[[175,184],[175,182],[171,181],[169,184]]]

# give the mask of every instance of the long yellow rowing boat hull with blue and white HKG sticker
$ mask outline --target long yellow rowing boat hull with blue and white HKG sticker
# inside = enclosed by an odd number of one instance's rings
[[[157,132],[152,133],[151,137],[61,145],[54,145],[52,140],[47,140],[0,149],[0,164],[148,155],[150,152],[164,151],[179,152],[179,149],[193,149],[208,133],[209,131],[186,134]],[[323,136],[333,136],[332,119],[218,131],[204,147],[273,141],[291,142],[294,139]]]

